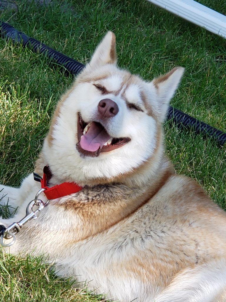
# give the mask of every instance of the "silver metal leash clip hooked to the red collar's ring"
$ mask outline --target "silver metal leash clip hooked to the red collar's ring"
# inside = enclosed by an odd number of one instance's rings
[[[26,216],[22,218],[19,222],[14,222],[8,228],[5,229],[4,233],[0,237],[0,243],[3,247],[9,247],[14,244],[16,241],[16,234],[20,232],[21,228],[26,224],[28,221],[32,219],[36,219],[37,213],[41,212],[44,207],[49,203],[49,200],[44,203],[41,199],[39,199],[39,195],[44,192],[45,189],[42,188],[38,191],[38,193],[35,195],[35,198],[29,202],[26,209]],[[36,210],[33,210],[34,207],[38,207]],[[4,243],[3,239],[8,240],[12,239],[10,243]]]

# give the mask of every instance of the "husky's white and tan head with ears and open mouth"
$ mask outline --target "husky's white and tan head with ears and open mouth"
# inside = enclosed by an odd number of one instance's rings
[[[58,178],[93,183],[130,173],[154,153],[184,72],[146,82],[116,65],[108,32],[55,111],[44,153]]]

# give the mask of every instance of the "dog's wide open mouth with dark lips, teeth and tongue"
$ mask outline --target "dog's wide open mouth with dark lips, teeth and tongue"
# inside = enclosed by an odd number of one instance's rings
[[[130,138],[111,137],[102,124],[98,122],[85,123],[78,114],[78,143],[77,150],[86,156],[99,156],[101,152],[109,152],[124,146]]]

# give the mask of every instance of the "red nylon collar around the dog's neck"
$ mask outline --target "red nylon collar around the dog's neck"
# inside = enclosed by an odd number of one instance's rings
[[[51,178],[52,173],[48,166],[44,167],[43,172],[43,178],[39,176],[40,178],[38,181],[41,182],[41,187],[45,189],[44,193],[48,199],[60,198],[66,195],[77,193],[82,190],[82,187],[80,187],[74,182],[63,182],[60,185],[55,185],[49,188],[47,185],[47,181]],[[35,174],[36,173],[34,173],[34,176]],[[37,180],[37,176],[35,180]]]

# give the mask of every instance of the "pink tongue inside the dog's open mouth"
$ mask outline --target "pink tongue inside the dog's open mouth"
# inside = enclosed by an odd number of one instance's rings
[[[80,146],[83,150],[95,152],[109,140],[110,136],[101,124],[93,122],[88,132],[81,137]]]

